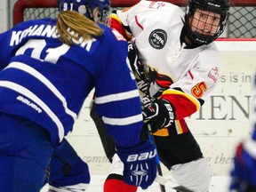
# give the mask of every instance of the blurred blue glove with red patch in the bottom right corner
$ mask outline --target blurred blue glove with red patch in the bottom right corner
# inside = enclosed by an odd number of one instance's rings
[[[245,148],[248,147],[248,150]],[[250,148],[253,155],[249,152]],[[231,172],[230,190],[237,192],[256,191],[256,142],[246,140],[236,148],[234,168]]]

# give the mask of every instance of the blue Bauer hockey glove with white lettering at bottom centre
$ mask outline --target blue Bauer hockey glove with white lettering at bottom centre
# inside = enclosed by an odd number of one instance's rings
[[[117,148],[124,163],[124,182],[148,188],[156,179],[156,148],[146,141],[134,148]]]

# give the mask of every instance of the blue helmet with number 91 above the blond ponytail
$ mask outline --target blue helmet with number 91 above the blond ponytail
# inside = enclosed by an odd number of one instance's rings
[[[110,11],[110,0],[58,0],[60,12],[75,11],[84,14],[90,20],[106,24]]]

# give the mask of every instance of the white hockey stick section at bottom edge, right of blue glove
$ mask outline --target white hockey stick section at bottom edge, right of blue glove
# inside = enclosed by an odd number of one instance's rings
[[[156,176],[156,180],[157,183],[159,183],[162,186],[168,187],[168,188],[173,188],[179,192],[194,192],[184,186],[181,186],[180,184],[178,184],[177,182],[174,182],[172,180],[167,180],[164,177],[157,175]]]

